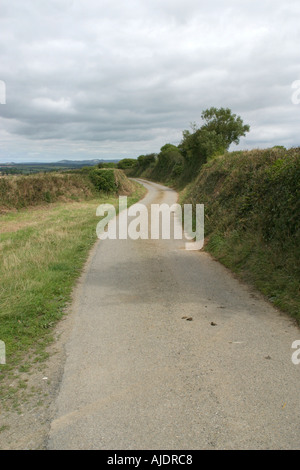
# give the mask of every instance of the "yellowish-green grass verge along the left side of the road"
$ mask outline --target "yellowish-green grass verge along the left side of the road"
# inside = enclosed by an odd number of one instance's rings
[[[133,185],[133,183],[130,182]],[[145,190],[134,184],[128,203]],[[0,217],[0,339],[6,344],[6,365],[0,365],[0,387],[34,361],[45,357],[45,346],[71,298],[96,237],[96,208],[118,204],[102,195],[80,202],[9,212]],[[18,386],[2,386],[9,398]]]

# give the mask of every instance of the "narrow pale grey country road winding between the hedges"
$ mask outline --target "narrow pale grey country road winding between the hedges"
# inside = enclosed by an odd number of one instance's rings
[[[299,329],[184,240],[99,240],[72,317],[48,449],[300,448]]]

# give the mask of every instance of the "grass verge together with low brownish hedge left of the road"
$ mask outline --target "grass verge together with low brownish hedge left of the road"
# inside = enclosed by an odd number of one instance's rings
[[[100,170],[91,171],[98,174]],[[24,177],[25,188],[32,193],[25,195],[24,191],[23,197],[20,188],[24,189],[24,182],[14,179],[23,177],[9,177],[13,178],[9,193],[12,198],[5,196],[3,200],[1,196],[1,207],[7,212],[0,215],[0,339],[6,345],[6,364],[0,365],[3,406],[26,389],[26,383],[18,383],[18,374],[47,357],[45,348],[52,341],[53,327],[63,316],[76,279],[97,240],[98,205],[109,203],[118,209],[119,194],[127,195],[131,205],[145,193],[120,170],[112,171],[114,178],[108,178],[114,182],[113,190],[101,191],[81,173],[76,177]],[[33,183],[39,183],[42,190],[30,189]],[[32,196],[43,195],[47,188],[53,201],[63,184],[66,191],[54,203],[45,201],[44,196]],[[15,197],[13,188],[17,190]],[[18,208],[29,208],[12,210],[14,203]]]

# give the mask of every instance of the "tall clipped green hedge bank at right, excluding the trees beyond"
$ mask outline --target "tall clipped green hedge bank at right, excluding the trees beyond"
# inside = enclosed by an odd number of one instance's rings
[[[181,202],[205,204],[205,249],[300,322],[300,149],[220,156]]]

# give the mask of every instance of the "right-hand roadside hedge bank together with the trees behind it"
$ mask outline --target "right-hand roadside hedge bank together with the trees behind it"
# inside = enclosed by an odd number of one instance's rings
[[[300,323],[300,148],[228,152],[249,126],[229,109],[201,117],[178,146],[125,172],[175,187],[181,204],[204,203],[204,249]]]

